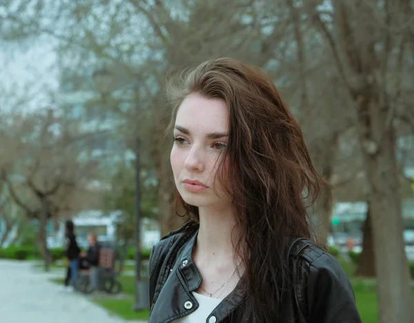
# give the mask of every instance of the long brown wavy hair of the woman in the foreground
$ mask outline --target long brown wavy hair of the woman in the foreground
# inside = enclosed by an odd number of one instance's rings
[[[218,177],[226,179],[232,197],[233,245],[246,268],[242,286],[248,306],[257,322],[275,322],[285,288],[293,284],[286,244],[294,237],[313,239],[308,208],[326,182],[313,167],[297,121],[262,70],[220,58],[181,73],[168,89],[174,106],[170,128],[181,102],[195,93],[228,106],[224,154],[229,162],[220,165]],[[196,206],[178,192],[175,202],[188,220],[198,222]]]

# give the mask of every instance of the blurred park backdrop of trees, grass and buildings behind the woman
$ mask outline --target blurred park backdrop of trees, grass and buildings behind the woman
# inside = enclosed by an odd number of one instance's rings
[[[150,248],[181,224],[166,79],[223,56],[263,68],[301,124],[333,186],[310,210],[317,239],[349,275],[363,322],[408,323],[413,0],[1,1],[0,257],[62,268],[73,219],[83,248],[90,231],[127,248],[127,297],[97,302],[145,318],[132,311],[136,247],[146,280]]]

